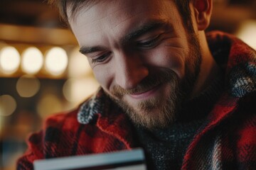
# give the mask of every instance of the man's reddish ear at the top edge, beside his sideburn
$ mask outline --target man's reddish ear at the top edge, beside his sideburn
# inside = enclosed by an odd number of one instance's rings
[[[210,16],[213,9],[212,0],[193,0],[195,18],[198,30],[206,30],[210,24]]]

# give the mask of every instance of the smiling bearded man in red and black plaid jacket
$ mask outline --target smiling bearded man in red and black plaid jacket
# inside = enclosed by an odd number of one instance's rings
[[[211,0],[53,1],[101,89],[31,135],[36,159],[143,147],[149,169],[256,167],[256,53],[208,35]]]

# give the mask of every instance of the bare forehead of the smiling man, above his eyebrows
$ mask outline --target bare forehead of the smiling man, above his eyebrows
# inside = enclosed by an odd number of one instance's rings
[[[175,13],[172,0],[108,0],[79,8],[69,22],[81,44],[85,37],[90,39],[105,34],[118,37],[120,32],[127,33],[150,20],[169,20],[166,16],[172,16],[175,21]]]

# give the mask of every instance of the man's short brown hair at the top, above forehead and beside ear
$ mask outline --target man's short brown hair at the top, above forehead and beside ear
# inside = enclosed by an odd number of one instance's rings
[[[48,0],[48,3],[56,6],[59,10],[60,17],[68,24],[68,13],[67,6],[70,5],[71,13],[74,16],[75,13],[82,8],[87,6],[89,3],[95,2],[96,0]],[[97,0],[99,1],[99,0]],[[191,20],[191,10],[189,8],[189,3],[191,0],[174,0],[178,11],[181,14],[183,20],[183,25],[187,28],[188,33],[193,33],[193,24]],[[69,24],[68,24],[69,25]]]

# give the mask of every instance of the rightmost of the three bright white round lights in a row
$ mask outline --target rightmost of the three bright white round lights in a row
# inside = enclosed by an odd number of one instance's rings
[[[46,54],[46,70],[55,76],[63,74],[68,66],[68,55],[60,47],[53,47]]]

